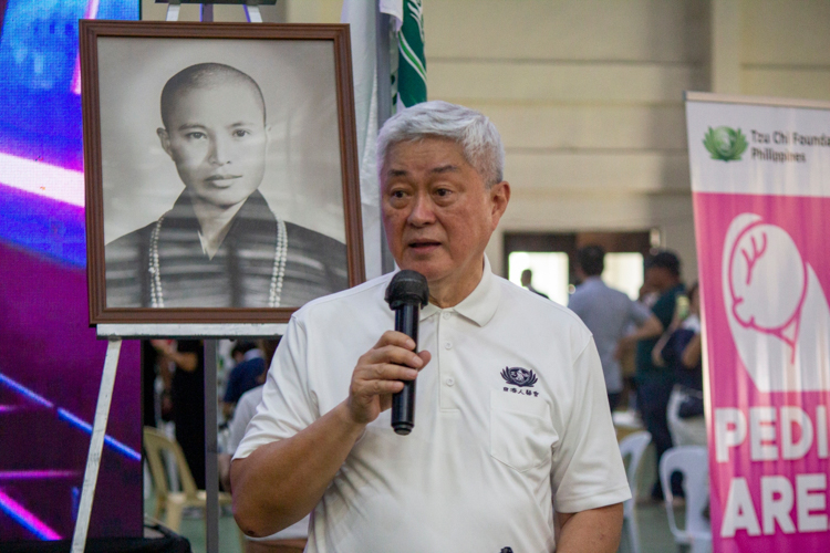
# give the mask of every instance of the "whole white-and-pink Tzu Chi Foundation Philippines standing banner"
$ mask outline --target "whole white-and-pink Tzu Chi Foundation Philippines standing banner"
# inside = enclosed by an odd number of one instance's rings
[[[689,93],[714,551],[830,551],[830,104]]]

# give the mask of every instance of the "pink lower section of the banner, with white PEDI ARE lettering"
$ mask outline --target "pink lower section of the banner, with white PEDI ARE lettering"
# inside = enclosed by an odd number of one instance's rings
[[[698,192],[694,205],[715,551],[824,551],[830,199]]]

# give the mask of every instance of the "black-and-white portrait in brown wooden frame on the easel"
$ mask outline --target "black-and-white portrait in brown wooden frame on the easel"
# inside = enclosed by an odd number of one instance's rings
[[[364,280],[346,25],[81,21],[90,323],[284,323]]]

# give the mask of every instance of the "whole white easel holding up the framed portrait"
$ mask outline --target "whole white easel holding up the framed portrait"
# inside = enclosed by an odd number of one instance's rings
[[[178,21],[181,3],[201,4],[201,21],[214,20],[215,3],[241,4],[243,3],[246,17],[250,23],[261,23],[262,14],[259,4],[276,3],[276,0],[169,0],[167,6],[167,21]],[[81,491],[81,502],[75,520],[75,531],[72,535],[72,553],[83,553],[86,547],[86,534],[90,529],[90,514],[92,513],[92,499],[95,495],[98,469],[101,467],[101,452],[106,436],[106,422],[110,417],[110,405],[113,398],[113,386],[115,385],[115,372],[118,366],[121,354],[121,342],[124,338],[159,338],[159,337],[187,337],[205,340],[205,492],[207,505],[205,509],[206,525],[206,550],[207,553],[219,552],[219,479],[218,479],[218,438],[217,438],[217,395],[216,395],[216,366],[217,366],[217,338],[231,337],[272,337],[286,333],[284,324],[141,324],[141,325],[98,325],[98,338],[108,341],[106,358],[104,361],[104,374],[101,378],[98,399],[95,407],[95,419],[92,427],[92,439],[90,440],[90,452],[86,458],[84,470],[84,482]]]

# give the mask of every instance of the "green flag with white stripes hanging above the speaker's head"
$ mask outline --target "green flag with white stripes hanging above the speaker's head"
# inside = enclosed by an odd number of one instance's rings
[[[403,23],[397,32],[397,79],[393,76],[393,94],[397,88],[393,102],[397,111],[426,102],[424,4],[422,0],[403,0],[402,8]]]

